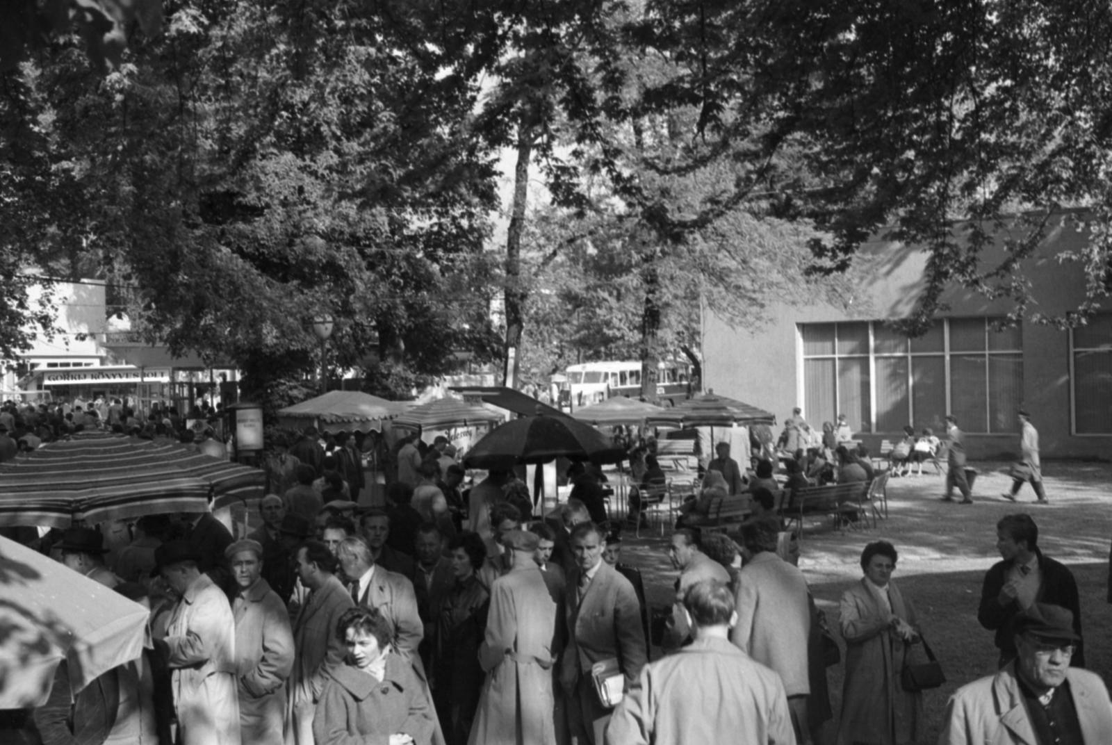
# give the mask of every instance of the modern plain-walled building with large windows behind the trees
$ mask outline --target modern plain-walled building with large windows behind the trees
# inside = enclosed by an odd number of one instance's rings
[[[945,290],[950,309],[930,330],[907,338],[891,321],[907,318],[926,288],[922,247],[874,239],[865,244],[834,300],[774,305],[755,329],[708,317],[704,327],[706,386],[772,410],[783,420],[803,408],[813,426],[845,414],[872,453],[907,425],[943,430],[954,414],[973,458],[1017,454],[1016,411],[1039,428],[1044,457],[1112,457],[1112,304],[1072,330],[1032,322],[1075,310],[1085,277],[1066,251],[1088,244],[1076,215],[1051,217],[1034,255],[1023,261],[1032,302],[1019,326],[1000,328],[1011,301],[963,288]],[[967,225],[954,227],[966,235]],[[1003,257],[1006,227],[984,254]]]

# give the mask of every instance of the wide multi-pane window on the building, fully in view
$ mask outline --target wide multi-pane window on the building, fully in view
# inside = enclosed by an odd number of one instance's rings
[[[997,331],[996,320],[940,320],[915,339],[881,321],[801,326],[807,416],[833,421],[845,414],[855,431],[894,434],[909,424],[941,430],[953,411],[965,431],[1016,431],[1023,329]],[[1112,404],[1112,379],[1108,393]],[[1112,408],[1105,410],[1112,419]]]

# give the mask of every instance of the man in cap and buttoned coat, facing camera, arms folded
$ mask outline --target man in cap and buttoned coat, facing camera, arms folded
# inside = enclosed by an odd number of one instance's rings
[[[281,745],[286,678],[294,669],[294,632],[286,604],[262,578],[262,545],[238,540],[225,552],[236,582],[239,728],[245,743]]]

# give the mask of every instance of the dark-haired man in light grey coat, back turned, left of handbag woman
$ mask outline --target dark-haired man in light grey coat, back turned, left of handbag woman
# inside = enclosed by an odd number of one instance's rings
[[[807,742],[807,635],[811,609],[803,573],[776,555],[776,526],[758,520],[742,528],[748,560],[737,575],[737,626],[731,640],[780,674],[800,743]]]

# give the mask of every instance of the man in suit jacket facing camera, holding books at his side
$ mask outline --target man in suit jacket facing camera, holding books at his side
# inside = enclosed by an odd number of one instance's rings
[[[637,594],[629,580],[603,560],[603,532],[594,523],[572,530],[576,567],[567,582],[568,643],[560,660],[560,684],[568,696],[573,745],[602,745],[609,712],[592,681],[592,666],[616,659],[631,686],[645,666],[645,632]]]

